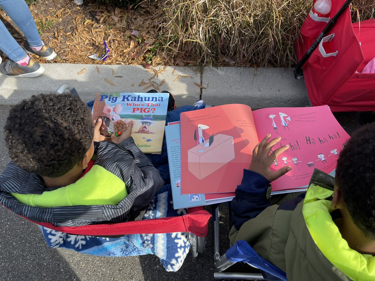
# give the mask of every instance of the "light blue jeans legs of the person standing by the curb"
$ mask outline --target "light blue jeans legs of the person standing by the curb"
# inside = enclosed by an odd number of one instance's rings
[[[31,47],[42,46],[39,32],[30,9],[24,0],[0,0],[0,6],[10,16],[12,21],[20,28]],[[26,52],[10,35],[9,31],[0,20],[0,50],[10,60],[19,61],[26,57]]]

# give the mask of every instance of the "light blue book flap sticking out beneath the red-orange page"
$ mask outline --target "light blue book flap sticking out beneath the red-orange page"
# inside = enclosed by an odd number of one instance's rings
[[[179,122],[173,122],[173,124],[165,126],[165,139],[173,208],[181,209],[206,205],[204,194],[181,195],[181,126]]]

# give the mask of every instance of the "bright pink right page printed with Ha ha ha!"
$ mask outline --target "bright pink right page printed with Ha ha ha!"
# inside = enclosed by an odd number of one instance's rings
[[[271,139],[281,136],[273,151],[281,145],[290,145],[271,169],[291,166],[292,170],[272,182],[272,191],[307,187],[314,168],[332,172],[343,144],[349,139],[326,105],[264,108],[254,111],[253,116],[260,141],[271,133]]]

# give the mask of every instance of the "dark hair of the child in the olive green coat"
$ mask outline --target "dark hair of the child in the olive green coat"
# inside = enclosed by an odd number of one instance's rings
[[[356,130],[345,143],[335,181],[354,223],[375,239],[375,123]]]

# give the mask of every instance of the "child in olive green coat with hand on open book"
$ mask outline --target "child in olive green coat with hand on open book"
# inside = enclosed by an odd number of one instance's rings
[[[237,186],[231,241],[247,241],[290,281],[375,280],[375,124],[344,145],[335,178],[315,169],[307,192],[281,205],[270,204],[270,182],[291,167],[270,166],[288,146],[270,154],[281,140],[270,137]]]

